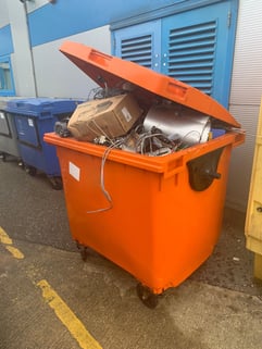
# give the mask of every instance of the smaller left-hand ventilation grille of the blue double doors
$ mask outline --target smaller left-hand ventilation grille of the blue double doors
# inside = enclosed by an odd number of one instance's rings
[[[145,35],[129,39],[122,39],[121,58],[151,68],[152,36]]]

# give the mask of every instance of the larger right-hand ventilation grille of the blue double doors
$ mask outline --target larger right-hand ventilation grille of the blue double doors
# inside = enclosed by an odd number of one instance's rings
[[[216,43],[216,22],[172,29],[167,74],[211,95]]]

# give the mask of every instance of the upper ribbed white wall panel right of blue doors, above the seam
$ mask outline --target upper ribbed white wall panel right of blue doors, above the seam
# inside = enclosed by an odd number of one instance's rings
[[[230,103],[259,104],[262,92],[262,1],[241,0]]]

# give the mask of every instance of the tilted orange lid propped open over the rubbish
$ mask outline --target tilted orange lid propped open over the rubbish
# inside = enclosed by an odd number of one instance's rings
[[[145,109],[152,105],[157,95],[213,116],[230,126],[240,127],[233,115],[214,99],[172,77],[78,42],[65,41],[60,51],[100,86],[104,87],[107,83],[108,87],[115,88],[130,83],[133,95]]]

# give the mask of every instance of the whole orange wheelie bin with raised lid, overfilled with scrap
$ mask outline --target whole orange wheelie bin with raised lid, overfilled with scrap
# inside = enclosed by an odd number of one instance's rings
[[[153,308],[212,253],[230,153],[245,133],[215,100],[174,78],[80,43],[60,50],[98,85],[128,89],[146,112],[164,99],[224,126],[223,135],[163,157],[45,135],[57,146],[73,239],[129,272]]]

